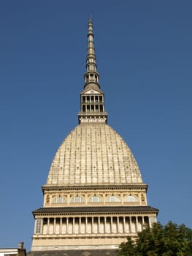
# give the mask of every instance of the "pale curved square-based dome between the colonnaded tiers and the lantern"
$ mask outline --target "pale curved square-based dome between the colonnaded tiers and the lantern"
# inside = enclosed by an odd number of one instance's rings
[[[47,185],[141,184],[136,160],[123,138],[107,124],[79,124],[55,154]]]

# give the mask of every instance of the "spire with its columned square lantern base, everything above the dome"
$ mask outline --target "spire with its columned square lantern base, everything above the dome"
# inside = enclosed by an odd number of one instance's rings
[[[79,123],[107,123],[107,112],[104,111],[104,93],[99,86],[99,72],[96,68],[96,54],[93,42],[93,22],[88,20],[88,56],[84,75],[84,90],[80,94],[81,110]]]

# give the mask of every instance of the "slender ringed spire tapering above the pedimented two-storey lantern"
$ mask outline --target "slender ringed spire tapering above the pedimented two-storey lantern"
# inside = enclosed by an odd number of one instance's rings
[[[91,19],[91,15],[88,20],[88,55],[86,60],[86,72],[84,75],[85,78],[85,86],[89,83],[95,83],[99,86],[99,73],[96,70],[96,54],[93,42],[93,22]],[[100,88],[100,86],[99,86]]]

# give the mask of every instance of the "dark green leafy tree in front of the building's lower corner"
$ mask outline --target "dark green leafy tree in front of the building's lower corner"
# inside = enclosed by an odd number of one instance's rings
[[[154,223],[120,244],[120,256],[192,256],[192,230],[185,225]]]

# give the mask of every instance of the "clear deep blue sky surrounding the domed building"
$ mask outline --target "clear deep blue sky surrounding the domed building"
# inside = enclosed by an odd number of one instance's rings
[[[77,125],[88,16],[109,124],[158,220],[192,227],[192,1],[0,1],[0,247],[34,232],[55,151]]]

